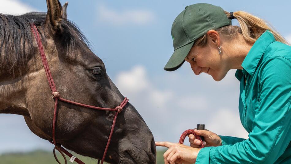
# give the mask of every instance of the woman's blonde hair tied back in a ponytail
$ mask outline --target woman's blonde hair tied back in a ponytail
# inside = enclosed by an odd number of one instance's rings
[[[227,18],[231,18],[229,12],[225,11]],[[233,17],[237,19],[240,24],[239,26],[227,25],[218,29],[214,29],[218,33],[223,36],[232,38],[232,36],[237,35],[238,33],[242,34],[244,40],[250,44],[254,44],[255,41],[266,31],[270,30],[270,32],[274,35],[276,41],[285,43],[290,45],[284,37],[282,37],[274,28],[271,28],[267,25],[267,23],[252,14],[249,14],[244,11],[236,11],[233,12]],[[195,40],[193,46],[204,46],[207,43],[206,34],[202,37],[199,37]]]

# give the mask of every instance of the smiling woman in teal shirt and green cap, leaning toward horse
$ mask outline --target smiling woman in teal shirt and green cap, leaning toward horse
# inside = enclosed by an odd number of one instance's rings
[[[232,26],[237,19],[240,27]],[[174,53],[167,71],[190,63],[195,75],[205,72],[222,80],[237,69],[240,80],[239,111],[249,139],[204,136],[206,147],[189,135],[191,147],[157,142],[169,149],[165,163],[291,163],[291,46],[266,23],[251,14],[229,13],[221,7],[199,3],[186,6],[172,25]]]

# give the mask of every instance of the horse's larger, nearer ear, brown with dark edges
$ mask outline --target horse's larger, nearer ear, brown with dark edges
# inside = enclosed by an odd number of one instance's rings
[[[54,33],[60,30],[62,22],[62,5],[59,0],[47,0],[47,18],[45,24]]]

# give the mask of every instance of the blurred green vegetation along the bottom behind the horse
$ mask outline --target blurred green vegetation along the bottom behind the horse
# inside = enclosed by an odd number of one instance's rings
[[[157,164],[164,164],[163,154],[166,150],[157,151]],[[57,156],[61,163],[65,163],[59,152]],[[97,160],[89,157],[77,155],[86,164],[96,164]],[[67,162],[70,163],[70,158],[67,157]],[[52,151],[35,150],[27,153],[5,153],[0,155],[0,164],[58,164],[55,161]],[[74,162],[76,163],[76,162]]]

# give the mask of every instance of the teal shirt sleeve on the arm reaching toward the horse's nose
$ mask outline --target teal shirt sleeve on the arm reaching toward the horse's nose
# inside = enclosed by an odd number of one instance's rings
[[[273,57],[259,70],[259,107],[249,139],[232,145],[202,148],[200,163],[274,163],[291,140],[291,61]]]

